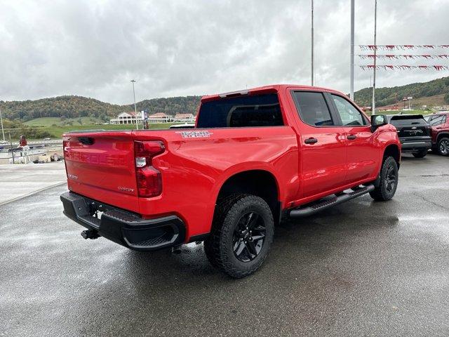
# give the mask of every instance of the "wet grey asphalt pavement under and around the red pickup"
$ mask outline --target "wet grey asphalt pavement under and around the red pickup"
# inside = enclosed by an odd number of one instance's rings
[[[0,206],[0,336],[449,336],[449,158],[403,157],[368,195],[276,227],[262,269],[83,240],[65,186]]]

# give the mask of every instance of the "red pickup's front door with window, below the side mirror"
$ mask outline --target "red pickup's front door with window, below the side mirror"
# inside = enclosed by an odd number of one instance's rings
[[[337,115],[337,124],[344,130],[347,144],[346,183],[375,176],[379,150],[375,147],[373,132],[366,116],[347,98],[335,93],[328,93],[333,109]]]

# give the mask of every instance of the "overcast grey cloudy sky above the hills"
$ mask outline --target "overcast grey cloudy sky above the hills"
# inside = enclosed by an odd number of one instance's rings
[[[314,7],[316,85],[347,93],[350,0]],[[448,18],[448,0],[379,0],[377,44],[449,44]],[[374,0],[356,0],[356,44],[373,44],[373,22]],[[137,100],[310,84],[310,40],[310,0],[0,0],[0,100],[83,95],[125,104],[130,79]],[[356,67],[356,90],[370,74]],[[443,76],[379,71],[377,86]]]

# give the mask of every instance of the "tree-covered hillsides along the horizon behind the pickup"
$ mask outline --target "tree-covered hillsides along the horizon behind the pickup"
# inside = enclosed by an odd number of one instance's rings
[[[393,104],[395,94],[398,100],[413,96],[416,104],[449,104],[449,77],[435,79],[425,83],[413,83],[406,86],[376,89],[376,105]],[[371,105],[371,89],[356,91],[356,103]],[[196,114],[200,96],[154,98],[137,103],[137,109],[147,110],[150,114],[165,112],[174,115],[178,112]],[[58,96],[40,100],[1,101],[0,109],[4,118],[22,121],[27,126],[83,126],[107,122],[123,111],[134,110],[133,105],[114,105],[93,98],[81,96]]]

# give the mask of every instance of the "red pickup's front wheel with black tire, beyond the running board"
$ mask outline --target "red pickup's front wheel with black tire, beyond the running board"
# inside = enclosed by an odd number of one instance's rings
[[[398,164],[393,157],[385,157],[380,169],[379,187],[370,192],[370,196],[377,201],[387,201],[394,197],[398,187]]]

